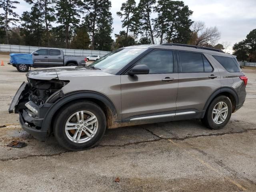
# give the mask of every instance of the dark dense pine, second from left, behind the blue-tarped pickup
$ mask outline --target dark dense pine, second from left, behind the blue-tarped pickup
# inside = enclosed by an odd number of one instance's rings
[[[31,12],[23,12],[20,20],[22,21],[20,34],[24,38],[25,45],[41,46],[45,30],[42,12],[36,6],[32,6]]]

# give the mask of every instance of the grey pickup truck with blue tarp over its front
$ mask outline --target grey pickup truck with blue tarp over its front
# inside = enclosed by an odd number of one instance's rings
[[[12,55],[12,56],[11,56]],[[29,67],[46,68],[56,66],[86,66],[86,57],[84,56],[66,56],[63,50],[56,48],[40,48],[30,54],[10,54],[11,57],[26,57],[27,61],[10,60],[10,65],[17,68],[19,72],[27,72]],[[26,60],[25,59],[25,60]]]

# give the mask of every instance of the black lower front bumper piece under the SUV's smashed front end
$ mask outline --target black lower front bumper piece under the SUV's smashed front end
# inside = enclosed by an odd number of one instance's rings
[[[28,132],[29,134],[31,134],[34,138],[38,139],[38,140],[45,140],[47,137],[47,131],[44,131],[42,129],[36,129],[36,126],[29,126],[28,123],[25,122],[23,116],[24,113],[19,113],[20,115],[20,126],[22,127],[22,129],[26,132]]]

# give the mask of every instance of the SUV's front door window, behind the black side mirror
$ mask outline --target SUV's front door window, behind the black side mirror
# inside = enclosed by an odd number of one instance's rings
[[[139,60],[136,65],[147,65],[149,74],[172,73],[173,56],[172,51],[156,50],[147,54]]]

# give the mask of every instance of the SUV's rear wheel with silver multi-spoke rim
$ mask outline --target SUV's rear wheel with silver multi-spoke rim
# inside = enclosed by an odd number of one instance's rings
[[[222,110],[219,110],[219,107]],[[227,112],[226,108],[228,109]],[[230,99],[227,96],[218,96],[208,106],[204,118],[201,121],[210,129],[222,129],[230,120],[231,114],[232,103]]]

